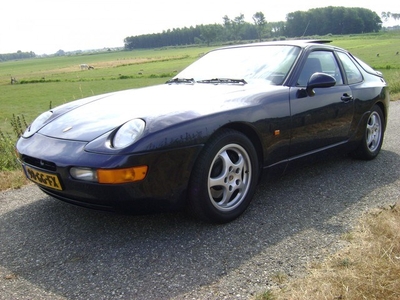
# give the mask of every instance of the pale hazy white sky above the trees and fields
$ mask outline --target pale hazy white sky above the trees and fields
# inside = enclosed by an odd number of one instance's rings
[[[6,0],[0,13],[0,54],[123,47],[124,38],[201,24],[222,24],[262,12],[267,22],[294,11],[327,6],[363,7],[381,16],[400,13],[393,0]],[[398,25],[399,21],[384,23]]]

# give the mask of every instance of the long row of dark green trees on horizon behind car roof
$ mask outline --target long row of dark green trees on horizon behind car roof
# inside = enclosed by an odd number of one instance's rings
[[[387,16],[390,13],[386,13]],[[390,14],[391,16],[391,14]],[[310,35],[357,34],[377,32],[381,18],[365,8],[324,7],[289,13],[286,21],[267,22],[262,12],[246,22],[244,15],[222,18],[222,24],[174,28],[161,33],[130,36],[124,39],[126,50],[166,46],[210,44],[240,40],[293,38]]]

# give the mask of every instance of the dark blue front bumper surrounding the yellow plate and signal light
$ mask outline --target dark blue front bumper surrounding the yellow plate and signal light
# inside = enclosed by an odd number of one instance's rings
[[[36,182],[45,193],[80,206],[134,212],[179,208],[193,164],[202,149],[202,145],[197,145],[142,154],[106,155],[87,152],[85,145],[85,142],[35,134],[21,138],[16,147],[23,166],[59,178],[61,190]],[[148,166],[146,178],[124,184],[81,181],[72,178],[69,172],[71,167],[113,169],[140,165]]]

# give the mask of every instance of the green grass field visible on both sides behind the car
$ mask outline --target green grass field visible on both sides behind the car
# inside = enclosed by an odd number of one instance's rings
[[[327,37],[322,37],[326,39]],[[400,31],[329,36],[385,75],[400,98]],[[211,48],[184,47],[35,58],[0,63],[0,131],[13,114],[31,122],[50,106],[117,90],[164,83]],[[379,55],[378,55],[379,54]],[[88,64],[93,70],[81,70]],[[18,83],[11,84],[11,77]]]

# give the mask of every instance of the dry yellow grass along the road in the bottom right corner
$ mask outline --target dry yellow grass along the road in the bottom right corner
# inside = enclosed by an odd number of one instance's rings
[[[255,300],[400,299],[400,199],[361,217],[348,246]]]

